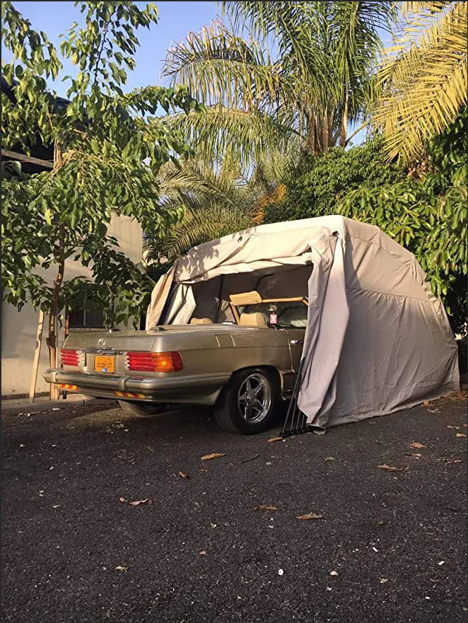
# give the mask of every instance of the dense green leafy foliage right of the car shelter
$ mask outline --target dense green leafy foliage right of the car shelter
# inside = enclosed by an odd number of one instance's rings
[[[344,216],[377,225],[416,255],[455,332],[463,332],[467,322],[467,122],[464,107],[429,142],[409,177],[352,190],[338,206]]]

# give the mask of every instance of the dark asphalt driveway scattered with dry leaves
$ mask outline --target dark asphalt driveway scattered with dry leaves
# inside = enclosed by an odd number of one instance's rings
[[[194,409],[2,417],[3,620],[462,622],[466,423],[466,395],[271,443]]]

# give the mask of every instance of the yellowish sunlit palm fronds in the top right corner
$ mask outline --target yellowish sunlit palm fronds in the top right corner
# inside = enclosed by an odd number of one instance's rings
[[[467,103],[467,3],[400,3],[400,29],[378,76],[373,115],[389,158],[419,156]]]

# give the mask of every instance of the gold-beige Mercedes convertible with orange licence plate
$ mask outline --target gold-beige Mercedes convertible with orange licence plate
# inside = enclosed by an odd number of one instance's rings
[[[192,318],[148,331],[72,332],[62,368],[46,370],[45,380],[67,392],[117,398],[133,414],[201,404],[213,407],[225,431],[265,431],[293,391],[308,301],[252,291],[229,303],[235,322]]]

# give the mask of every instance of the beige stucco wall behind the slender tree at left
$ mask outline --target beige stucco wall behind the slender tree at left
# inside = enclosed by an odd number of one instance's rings
[[[126,216],[112,216],[107,233],[119,240],[119,247],[133,262],[141,262],[143,233],[136,221]],[[42,273],[50,282],[56,276],[55,269]],[[65,279],[74,276],[90,276],[90,271],[79,262],[67,260]],[[2,305],[1,315],[1,395],[28,395],[33,371],[35,336],[38,313],[30,305],[25,305],[21,312],[8,303]],[[42,333],[39,371],[37,373],[36,392],[47,392],[49,386],[42,380],[42,371],[49,367],[47,337],[47,318]],[[59,331],[59,348],[64,341],[63,330]]]

